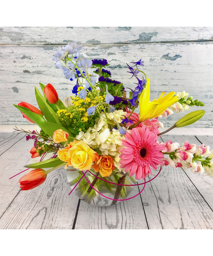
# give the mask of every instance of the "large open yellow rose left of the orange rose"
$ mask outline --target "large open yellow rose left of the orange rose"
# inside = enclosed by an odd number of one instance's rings
[[[68,149],[68,156],[74,168],[80,171],[90,170],[95,161],[97,152],[92,150],[83,140]]]

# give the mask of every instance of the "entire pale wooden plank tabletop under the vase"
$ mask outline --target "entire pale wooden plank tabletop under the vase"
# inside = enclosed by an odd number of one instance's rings
[[[209,145],[213,136],[163,135],[180,145]],[[182,168],[162,168],[141,196],[110,207],[79,200],[60,168],[39,187],[21,191],[18,180],[31,159],[24,134],[0,133],[0,229],[213,229],[213,178]],[[140,188],[135,188],[138,190]],[[137,191],[136,191],[137,192]]]

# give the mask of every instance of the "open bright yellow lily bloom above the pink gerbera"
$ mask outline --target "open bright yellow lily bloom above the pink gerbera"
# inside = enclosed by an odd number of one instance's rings
[[[163,114],[163,112],[169,106],[173,105],[175,102],[178,101],[178,96],[174,96],[175,92],[170,92],[165,96],[164,96],[165,92],[162,92],[158,100],[153,100],[149,102],[149,98],[150,98],[149,81],[150,79],[148,78],[146,87],[142,91],[142,94],[139,98],[139,107],[140,107],[139,121],[140,122],[144,122],[150,118],[158,117],[159,115]]]

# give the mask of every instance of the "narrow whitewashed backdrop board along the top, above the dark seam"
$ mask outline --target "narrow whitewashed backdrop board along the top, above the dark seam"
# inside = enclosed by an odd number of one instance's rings
[[[0,27],[0,45],[120,44],[213,40],[213,27]]]

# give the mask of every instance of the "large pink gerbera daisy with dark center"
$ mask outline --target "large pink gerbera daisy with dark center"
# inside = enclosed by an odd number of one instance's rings
[[[164,149],[164,145],[157,143],[158,136],[151,132],[147,126],[136,127],[125,134],[122,139],[122,145],[126,148],[120,149],[121,168],[125,168],[125,172],[129,171],[129,176],[136,173],[136,179],[144,179],[147,173],[152,175],[151,167],[157,170],[157,165],[162,165],[160,159],[164,158],[164,154],[160,150]]]

